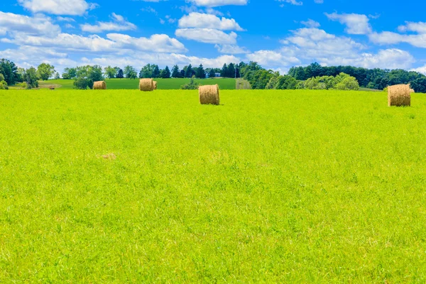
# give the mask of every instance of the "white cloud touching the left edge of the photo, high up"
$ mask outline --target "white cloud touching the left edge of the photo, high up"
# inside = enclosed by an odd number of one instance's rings
[[[53,24],[49,17],[41,15],[30,17],[1,11],[0,27],[3,34],[6,32],[21,32],[29,35],[55,35],[60,33],[60,26]]]

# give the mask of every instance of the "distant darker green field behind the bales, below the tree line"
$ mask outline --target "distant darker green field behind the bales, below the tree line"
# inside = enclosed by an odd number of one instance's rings
[[[170,78],[170,79],[154,79],[158,82],[158,89],[180,89],[182,84],[187,84],[190,79],[187,78]],[[107,89],[138,89],[139,80],[131,79],[107,79]],[[235,79],[232,78],[216,78],[216,79],[195,79],[200,84],[219,84],[220,89],[235,89]],[[62,89],[73,89],[74,80],[48,80],[40,81],[40,87],[45,85],[58,85]]]

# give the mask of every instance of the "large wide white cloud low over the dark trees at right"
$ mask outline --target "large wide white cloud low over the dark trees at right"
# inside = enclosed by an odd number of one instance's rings
[[[281,40],[278,50],[258,50],[246,55],[247,60],[265,67],[289,67],[320,62],[322,65],[353,65],[373,68],[410,68],[415,59],[399,49],[365,52],[366,46],[351,38],[329,34],[318,28],[300,28]]]

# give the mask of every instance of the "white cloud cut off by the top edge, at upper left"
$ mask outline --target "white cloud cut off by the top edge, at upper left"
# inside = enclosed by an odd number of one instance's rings
[[[84,0],[18,0],[24,8],[33,13],[51,13],[54,15],[82,15],[95,4],[88,4]]]

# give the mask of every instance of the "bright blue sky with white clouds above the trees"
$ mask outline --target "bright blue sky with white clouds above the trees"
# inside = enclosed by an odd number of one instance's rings
[[[425,9],[418,0],[4,0],[0,58],[59,72],[253,60],[282,73],[316,61],[426,74]]]

